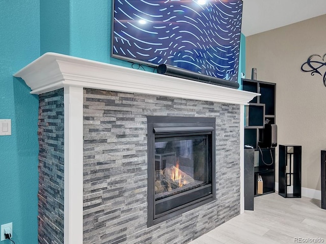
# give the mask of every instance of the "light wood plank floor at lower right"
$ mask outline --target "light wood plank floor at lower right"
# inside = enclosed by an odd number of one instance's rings
[[[326,243],[326,209],[320,204],[277,193],[255,197],[254,211],[244,211],[189,244]]]

